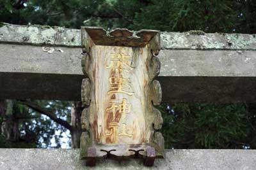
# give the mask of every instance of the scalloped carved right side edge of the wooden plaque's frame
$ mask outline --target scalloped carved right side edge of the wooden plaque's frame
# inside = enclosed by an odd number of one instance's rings
[[[162,155],[164,157],[164,138],[161,132],[159,132],[163,125],[163,117],[161,111],[157,110],[155,106],[159,106],[162,101],[162,89],[161,85],[156,77],[160,73],[161,62],[159,61],[157,55],[161,50],[160,44],[160,34],[157,33],[154,38],[148,43],[148,55],[147,58],[147,70],[148,70],[148,99],[147,106],[149,112],[147,114],[147,126],[149,126],[151,131],[150,144],[156,149],[157,155]]]

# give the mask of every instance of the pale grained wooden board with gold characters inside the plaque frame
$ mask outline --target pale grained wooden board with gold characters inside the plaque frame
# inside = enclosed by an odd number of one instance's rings
[[[144,81],[147,82],[147,77],[144,74],[146,70],[138,68],[145,62],[143,60],[145,56],[138,55],[143,52],[138,50],[140,49],[133,50],[117,46],[92,47],[93,57],[88,74],[92,75],[92,105],[95,106],[95,108],[92,107],[90,113],[95,113],[95,117],[90,122],[95,128],[94,131],[97,131],[94,133],[97,143],[138,144],[145,142],[143,87],[145,86]],[[111,65],[116,64],[115,59],[111,60],[113,54],[129,56],[131,58],[129,65],[125,65],[124,68],[120,68],[120,66],[117,70],[112,68]],[[131,67],[131,63],[134,65],[134,69]],[[120,104],[124,104],[124,106]],[[120,106],[124,107],[124,111],[121,111]],[[129,111],[125,113],[125,110]],[[127,131],[129,129],[126,136],[111,134],[111,132],[116,133],[113,131],[118,131],[117,129],[121,129],[122,126]]]

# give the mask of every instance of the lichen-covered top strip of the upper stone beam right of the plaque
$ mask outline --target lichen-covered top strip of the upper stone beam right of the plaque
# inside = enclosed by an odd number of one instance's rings
[[[204,34],[202,31],[162,32],[165,49],[255,50],[255,34]]]

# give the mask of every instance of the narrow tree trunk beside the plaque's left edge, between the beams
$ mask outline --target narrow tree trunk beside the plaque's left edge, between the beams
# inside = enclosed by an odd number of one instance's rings
[[[81,101],[74,102],[71,110],[71,138],[72,138],[72,148],[79,148],[80,137],[81,137],[81,114],[83,111],[83,104]]]

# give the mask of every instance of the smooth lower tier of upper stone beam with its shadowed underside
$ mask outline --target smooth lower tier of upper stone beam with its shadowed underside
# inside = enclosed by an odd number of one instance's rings
[[[81,48],[61,50],[0,44],[0,98],[81,99]],[[254,50],[162,50],[158,58],[164,102],[256,100]]]

